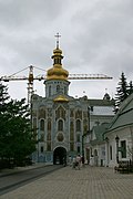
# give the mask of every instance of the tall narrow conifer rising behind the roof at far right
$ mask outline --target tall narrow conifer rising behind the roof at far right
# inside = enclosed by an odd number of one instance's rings
[[[119,86],[116,87],[115,105],[119,107],[120,104],[129,96],[129,85],[126,82],[125,74],[122,72]]]

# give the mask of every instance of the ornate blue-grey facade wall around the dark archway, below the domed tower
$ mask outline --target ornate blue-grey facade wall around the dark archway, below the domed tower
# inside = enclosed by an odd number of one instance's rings
[[[86,97],[78,100],[69,96],[69,102],[54,102],[54,97],[32,97],[32,124],[39,142],[33,155],[35,161],[53,164],[58,147],[64,148],[68,157],[82,155],[85,153],[82,145],[83,134],[96,125],[98,121],[101,124],[112,119],[109,115],[90,116]]]

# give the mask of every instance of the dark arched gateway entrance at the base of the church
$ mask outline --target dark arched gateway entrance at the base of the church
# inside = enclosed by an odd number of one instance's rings
[[[53,151],[53,165],[63,165],[63,159],[66,159],[66,149],[58,147]]]

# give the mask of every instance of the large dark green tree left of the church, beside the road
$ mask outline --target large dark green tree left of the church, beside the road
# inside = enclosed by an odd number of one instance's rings
[[[9,98],[7,87],[0,84],[0,157],[21,161],[35,150],[30,112],[24,98]]]

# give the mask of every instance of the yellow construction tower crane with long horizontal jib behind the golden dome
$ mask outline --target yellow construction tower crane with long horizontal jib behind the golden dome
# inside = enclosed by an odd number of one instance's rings
[[[41,71],[44,71],[45,74],[41,74],[41,75],[38,75],[38,76],[34,76],[33,75],[33,69],[38,69],[38,70],[41,70]],[[25,70],[29,70],[29,75],[28,76],[18,76],[17,74],[20,73],[20,72],[23,72]],[[0,77],[0,81],[3,81],[3,82],[10,82],[10,81],[28,81],[28,103],[30,104],[30,101],[31,101],[31,96],[33,94],[33,81],[42,81],[42,80],[47,80],[47,71],[45,70],[42,70],[40,67],[37,67],[37,66],[33,66],[33,65],[30,65],[17,73],[13,73],[12,75],[9,75],[9,76],[1,76]],[[111,76],[108,76],[108,75],[104,75],[104,74],[69,74],[69,77],[68,80],[112,80]]]

